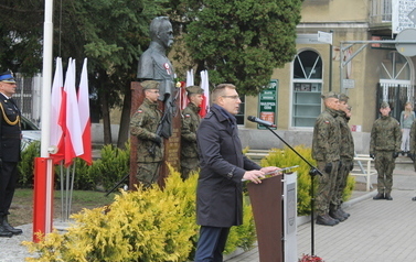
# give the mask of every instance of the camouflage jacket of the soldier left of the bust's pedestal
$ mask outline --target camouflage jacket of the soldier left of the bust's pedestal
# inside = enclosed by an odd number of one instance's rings
[[[145,99],[137,109],[130,121],[130,134],[138,138],[137,162],[159,162],[163,157],[163,143],[154,146],[154,155],[149,153],[156,130],[160,122],[162,112],[158,109],[158,103]]]

